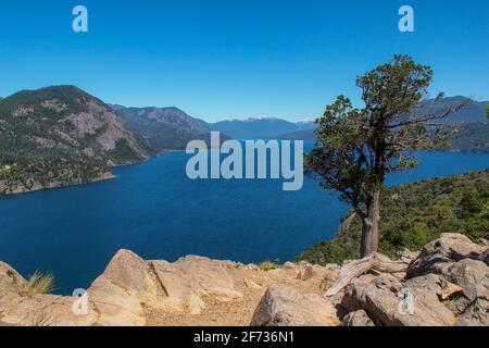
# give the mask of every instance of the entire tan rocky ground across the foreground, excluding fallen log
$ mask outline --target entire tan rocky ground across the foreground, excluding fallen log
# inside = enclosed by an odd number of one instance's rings
[[[0,322],[10,325],[489,325],[488,245],[446,234],[412,258],[408,272],[371,271],[331,297],[340,266],[254,264],[187,257],[145,261],[121,250],[76,299],[29,295],[0,262]]]

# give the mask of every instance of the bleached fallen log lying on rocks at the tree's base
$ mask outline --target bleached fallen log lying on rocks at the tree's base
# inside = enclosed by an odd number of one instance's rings
[[[374,252],[373,254],[350,263],[341,268],[338,279],[326,293],[326,297],[334,296],[341,291],[354,278],[367,273],[377,271],[380,273],[401,273],[406,272],[411,260],[391,261],[388,257]]]

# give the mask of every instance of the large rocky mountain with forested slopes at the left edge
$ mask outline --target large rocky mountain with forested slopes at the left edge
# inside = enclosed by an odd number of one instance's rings
[[[0,195],[111,177],[152,154],[101,100],[74,86],[0,100]]]

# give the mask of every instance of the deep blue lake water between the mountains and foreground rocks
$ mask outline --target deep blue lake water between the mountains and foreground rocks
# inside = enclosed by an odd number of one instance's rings
[[[0,260],[24,275],[52,272],[57,293],[87,288],[121,248],[145,259],[186,254],[254,262],[287,261],[333,238],[348,207],[305,178],[190,181],[188,157],[167,153],[115,170],[103,183],[0,199]],[[489,154],[424,152],[419,167],[390,184],[486,169]]]

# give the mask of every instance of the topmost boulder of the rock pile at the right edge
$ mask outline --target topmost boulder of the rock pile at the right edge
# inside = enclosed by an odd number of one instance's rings
[[[423,248],[416,260],[410,264],[408,275],[414,277],[427,273],[441,273],[447,264],[464,259],[482,260],[486,249],[464,235],[443,234]]]

